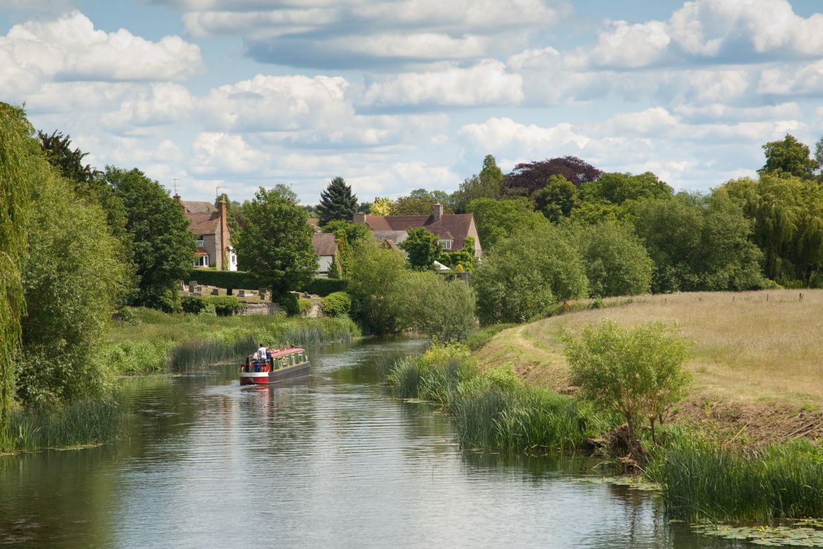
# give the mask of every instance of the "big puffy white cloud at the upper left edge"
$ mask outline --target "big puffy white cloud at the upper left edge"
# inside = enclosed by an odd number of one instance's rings
[[[179,36],[151,42],[120,29],[95,30],[71,12],[54,21],[29,21],[0,37],[0,91],[30,91],[45,80],[165,81],[202,70],[200,49]],[[9,82],[24,76],[26,85]]]

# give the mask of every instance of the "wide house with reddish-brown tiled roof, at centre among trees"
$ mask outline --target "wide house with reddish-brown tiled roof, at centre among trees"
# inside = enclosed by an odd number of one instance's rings
[[[400,244],[408,238],[409,229],[424,227],[437,236],[444,252],[463,249],[466,238],[471,236],[474,238],[475,257],[480,258],[483,254],[474,216],[470,213],[443,213],[441,204],[435,204],[430,216],[368,216],[356,213],[353,221],[365,223],[376,240],[387,244]]]

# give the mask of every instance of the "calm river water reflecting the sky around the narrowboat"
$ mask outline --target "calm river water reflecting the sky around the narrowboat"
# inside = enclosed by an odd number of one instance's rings
[[[377,383],[378,356],[420,345],[328,347],[282,388],[128,380],[126,440],[2,458],[0,547],[734,547],[572,458],[463,452]]]

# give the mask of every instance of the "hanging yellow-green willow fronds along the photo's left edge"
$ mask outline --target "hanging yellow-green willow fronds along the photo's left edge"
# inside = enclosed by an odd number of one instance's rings
[[[34,128],[22,109],[0,103],[0,430],[7,429],[15,387],[15,356],[26,311],[21,279],[31,182],[26,164]],[[34,142],[36,145],[36,142]]]

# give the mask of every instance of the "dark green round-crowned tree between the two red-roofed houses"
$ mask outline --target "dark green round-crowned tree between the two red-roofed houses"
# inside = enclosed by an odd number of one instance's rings
[[[272,288],[272,301],[307,284],[317,272],[305,210],[277,190],[259,188],[243,208],[241,229],[232,235],[240,270],[254,272]]]

